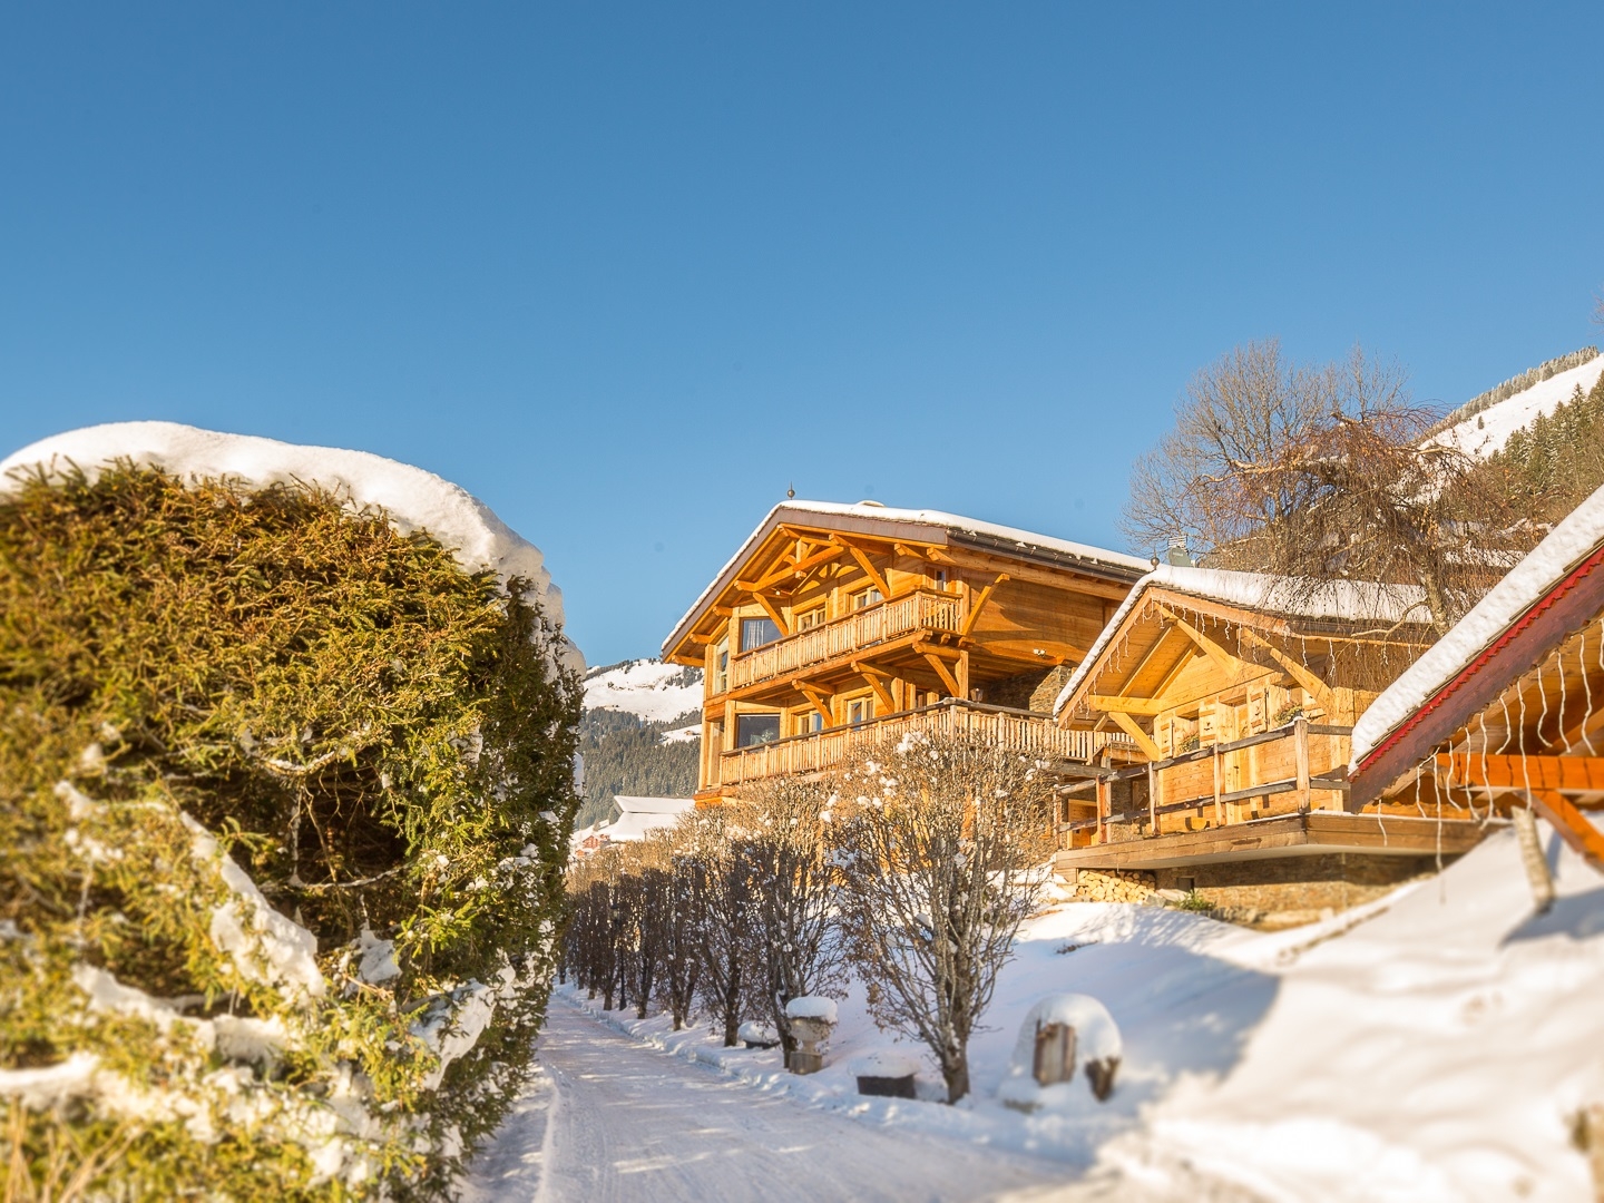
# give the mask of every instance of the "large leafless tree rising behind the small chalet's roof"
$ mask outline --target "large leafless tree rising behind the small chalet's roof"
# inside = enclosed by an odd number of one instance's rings
[[[1420,585],[1442,634],[1530,550],[1541,531],[1452,441],[1405,377],[1354,350],[1299,367],[1250,343],[1200,372],[1176,427],[1131,476],[1128,534],[1177,537],[1221,568],[1286,589],[1349,577]]]

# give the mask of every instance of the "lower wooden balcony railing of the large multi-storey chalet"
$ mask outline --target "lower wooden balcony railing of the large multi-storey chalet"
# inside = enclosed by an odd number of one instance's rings
[[[873,749],[887,739],[901,739],[909,731],[926,735],[967,735],[975,739],[1028,752],[1051,760],[1091,760],[1105,744],[1128,746],[1129,736],[1105,731],[1067,731],[1049,715],[983,706],[946,698],[917,711],[901,711],[858,727],[834,727],[812,735],[794,735],[752,747],[723,752],[714,760],[719,772],[712,786],[739,786],[789,773],[816,773],[834,768],[857,752]]]

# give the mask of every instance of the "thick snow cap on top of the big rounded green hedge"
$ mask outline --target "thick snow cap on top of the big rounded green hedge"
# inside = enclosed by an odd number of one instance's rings
[[[95,476],[115,459],[164,468],[183,480],[236,476],[255,486],[290,481],[321,484],[348,497],[353,505],[383,508],[401,534],[427,531],[449,547],[468,571],[491,569],[502,581],[523,577],[529,582],[526,595],[541,603],[547,619],[563,621],[561,590],[552,584],[537,547],[460,486],[367,451],[225,435],[178,422],[109,422],[51,435],[13,452],[0,462],[0,492],[11,488],[8,473],[16,470],[35,465],[64,468],[71,462]],[[584,669],[584,659],[571,643],[565,662]]]

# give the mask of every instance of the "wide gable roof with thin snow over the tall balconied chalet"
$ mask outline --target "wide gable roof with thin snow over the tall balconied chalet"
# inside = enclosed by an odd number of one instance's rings
[[[946,547],[967,547],[1017,560],[1035,560],[1052,568],[1071,568],[1078,573],[1120,584],[1129,584],[1148,568],[1147,560],[1139,560],[1123,552],[1110,552],[1102,547],[1070,542],[1068,539],[1054,539],[1047,534],[1035,534],[1033,531],[964,518],[962,515],[945,513],[942,510],[898,510],[876,502],[855,502],[849,505],[842,502],[784,500],[768,512],[757,525],[757,529],[730,557],[730,561],[719,569],[712,584],[701,592],[701,597],[691,603],[691,608],[674,626],[674,630],[662,642],[664,658],[674,654],[674,650],[701,621],[707,608],[735,582],[736,574],[746,565],[747,558],[784,525]]]

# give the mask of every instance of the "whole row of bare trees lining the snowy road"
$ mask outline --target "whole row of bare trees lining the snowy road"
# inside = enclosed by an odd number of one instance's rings
[[[608,1009],[706,1019],[725,1044],[755,1019],[788,1051],[786,1004],[857,977],[874,1020],[922,1041],[958,1100],[1051,831],[1030,759],[908,736],[573,866],[565,974]]]

